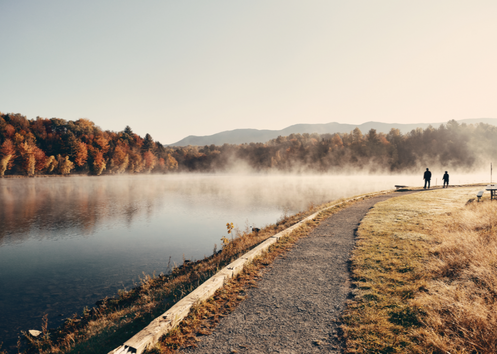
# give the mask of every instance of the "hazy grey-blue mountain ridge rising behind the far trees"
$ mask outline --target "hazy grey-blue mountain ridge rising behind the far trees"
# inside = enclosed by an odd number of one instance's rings
[[[478,124],[487,123],[497,126],[497,118],[475,118],[463,119],[457,121],[459,124]],[[223,145],[228,144],[243,144],[243,143],[265,143],[271,139],[277,138],[279,135],[288,136],[290,134],[303,134],[303,133],[318,133],[318,134],[334,134],[334,133],[350,133],[350,131],[359,128],[363,134],[367,133],[370,129],[376,129],[378,133],[388,133],[390,129],[399,129],[401,133],[405,134],[416,128],[425,129],[430,125],[438,128],[443,123],[415,123],[415,124],[401,124],[401,123],[380,123],[380,122],[367,122],[363,124],[342,124],[342,123],[326,123],[326,124],[295,124],[281,130],[258,130],[258,129],[235,129],[227,130],[224,132],[206,135],[195,136],[190,135],[173,144],[166,146],[187,146],[187,145]]]

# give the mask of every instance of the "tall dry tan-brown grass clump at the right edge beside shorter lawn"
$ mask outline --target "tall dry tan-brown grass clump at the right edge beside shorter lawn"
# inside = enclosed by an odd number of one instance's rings
[[[472,203],[434,226],[430,280],[412,304],[414,331],[433,352],[497,352],[497,204]]]

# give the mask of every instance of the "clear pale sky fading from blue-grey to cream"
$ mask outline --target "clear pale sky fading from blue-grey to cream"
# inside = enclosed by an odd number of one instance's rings
[[[163,144],[497,117],[495,1],[0,0],[0,111]]]

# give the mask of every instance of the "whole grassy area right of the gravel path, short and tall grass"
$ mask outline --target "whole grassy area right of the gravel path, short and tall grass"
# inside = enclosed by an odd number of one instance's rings
[[[497,352],[497,205],[479,189],[401,196],[363,219],[347,352]]]

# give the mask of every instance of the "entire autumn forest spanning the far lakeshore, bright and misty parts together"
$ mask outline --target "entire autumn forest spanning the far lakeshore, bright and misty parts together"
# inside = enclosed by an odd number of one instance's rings
[[[481,168],[497,153],[497,127],[451,120],[407,134],[358,128],[291,134],[266,143],[163,146],[150,134],[103,131],[88,119],[66,121],[0,113],[0,176],[177,172],[413,172],[423,167]]]

